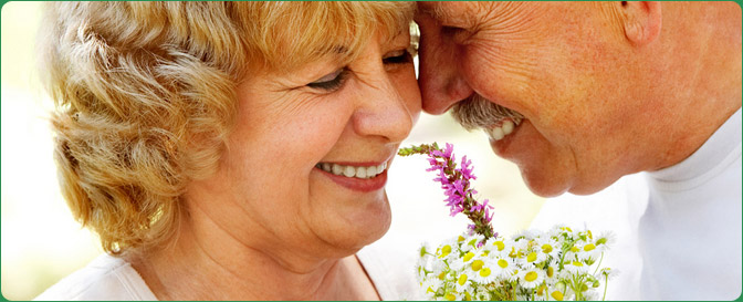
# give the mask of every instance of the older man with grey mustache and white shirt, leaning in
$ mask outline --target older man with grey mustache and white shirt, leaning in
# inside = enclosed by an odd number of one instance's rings
[[[647,171],[640,299],[740,295],[736,3],[420,2],[416,21],[423,110],[483,129],[535,194]]]

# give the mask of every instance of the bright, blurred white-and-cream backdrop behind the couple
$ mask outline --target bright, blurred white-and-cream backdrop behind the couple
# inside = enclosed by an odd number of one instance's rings
[[[34,41],[40,2],[8,2],[2,7],[1,86],[1,256],[2,295],[31,300],[61,278],[102,252],[96,238],[77,225],[59,192],[52,160],[48,116],[52,102],[38,81]],[[531,194],[519,169],[490,150],[482,133],[468,133],[449,115],[422,114],[402,145],[454,144],[458,158],[472,159],[479,176],[474,187],[495,207],[494,227],[504,235],[529,226],[543,204]],[[389,170],[387,192],[393,226],[383,240],[415,251],[421,241],[437,243],[467,226],[449,217],[435,177],[422,157],[397,158]],[[412,263],[410,265],[412,269]]]

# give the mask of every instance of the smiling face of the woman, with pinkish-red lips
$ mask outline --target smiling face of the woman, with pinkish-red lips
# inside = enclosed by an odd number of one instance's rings
[[[208,192],[199,209],[266,249],[347,253],[379,239],[391,219],[386,168],[420,93],[409,33],[377,38],[345,66],[329,58],[242,82],[219,170],[192,186]]]

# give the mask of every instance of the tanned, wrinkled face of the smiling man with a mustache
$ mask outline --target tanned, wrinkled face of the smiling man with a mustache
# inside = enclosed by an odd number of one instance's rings
[[[628,163],[641,133],[627,122],[642,114],[632,101],[639,77],[622,58],[613,4],[419,2],[423,110],[472,115],[481,96],[510,112],[458,119],[488,129],[495,154],[542,196],[595,192],[636,171]]]

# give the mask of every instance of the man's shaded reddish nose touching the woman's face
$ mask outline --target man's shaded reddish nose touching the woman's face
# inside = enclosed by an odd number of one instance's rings
[[[420,27],[418,84],[422,108],[429,114],[442,114],[457,102],[472,94],[461,76],[457,45],[441,34],[441,24],[425,13],[416,17]]]

